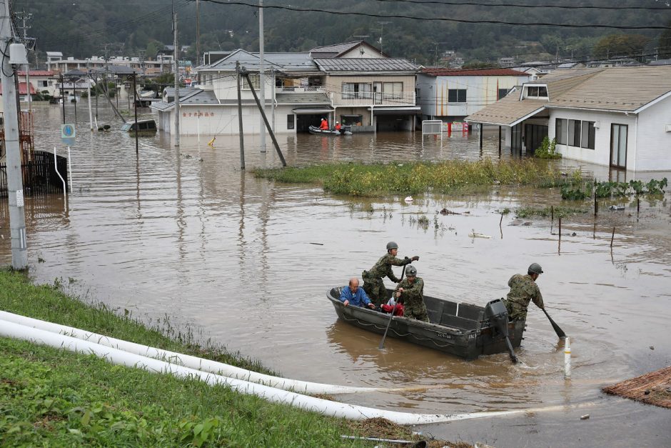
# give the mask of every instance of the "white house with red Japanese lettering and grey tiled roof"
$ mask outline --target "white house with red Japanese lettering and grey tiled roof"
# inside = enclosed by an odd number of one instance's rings
[[[257,53],[238,49],[212,64],[196,67],[198,88],[187,96],[180,89],[180,134],[238,134],[236,66],[249,73],[260,96],[260,63]],[[333,107],[323,85],[325,76],[308,53],[266,53],[263,68],[266,116],[276,133],[307,131],[322,117],[332,116]],[[243,131],[259,134],[261,113],[248,83],[242,81]],[[151,108],[158,111],[159,129],[173,133],[174,100],[155,102]]]

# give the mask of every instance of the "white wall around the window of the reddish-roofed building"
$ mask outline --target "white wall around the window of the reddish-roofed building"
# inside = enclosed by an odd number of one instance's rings
[[[422,114],[430,117],[468,116],[498,100],[498,89],[512,89],[528,76],[428,76],[417,75]],[[465,103],[450,103],[448,90],[466,89]]]

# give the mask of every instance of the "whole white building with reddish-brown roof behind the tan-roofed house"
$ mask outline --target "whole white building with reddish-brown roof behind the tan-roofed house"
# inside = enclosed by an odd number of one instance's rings
[[[417,102],[423,119],[460,120],[528,79],[512,69],[423,69],[417,75]]]

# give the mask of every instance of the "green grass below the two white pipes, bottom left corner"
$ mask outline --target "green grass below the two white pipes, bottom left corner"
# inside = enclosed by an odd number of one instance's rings
[[[4,447],[340,447],[344,420],[0,338]]]

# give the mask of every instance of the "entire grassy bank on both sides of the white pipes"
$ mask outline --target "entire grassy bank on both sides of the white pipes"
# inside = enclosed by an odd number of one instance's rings
[[[118,316],[104,305],[84,304],[56,287],[36,286],[22,274],[1,269],[0,309],[268,372],[223,347],[198,347],[189,332],[177,333],[171,339],[163,334],[171,332],[165,323],[160,329],[150,329],[128,315]],[[93,355],[0,337],[0,446],[375,444],[341,439],[341,434],[417,439],[409,429],[380,419],[348,422],[323,417],[195,379],[112,366]],[[433,441],[430,446],[443,444]]]

